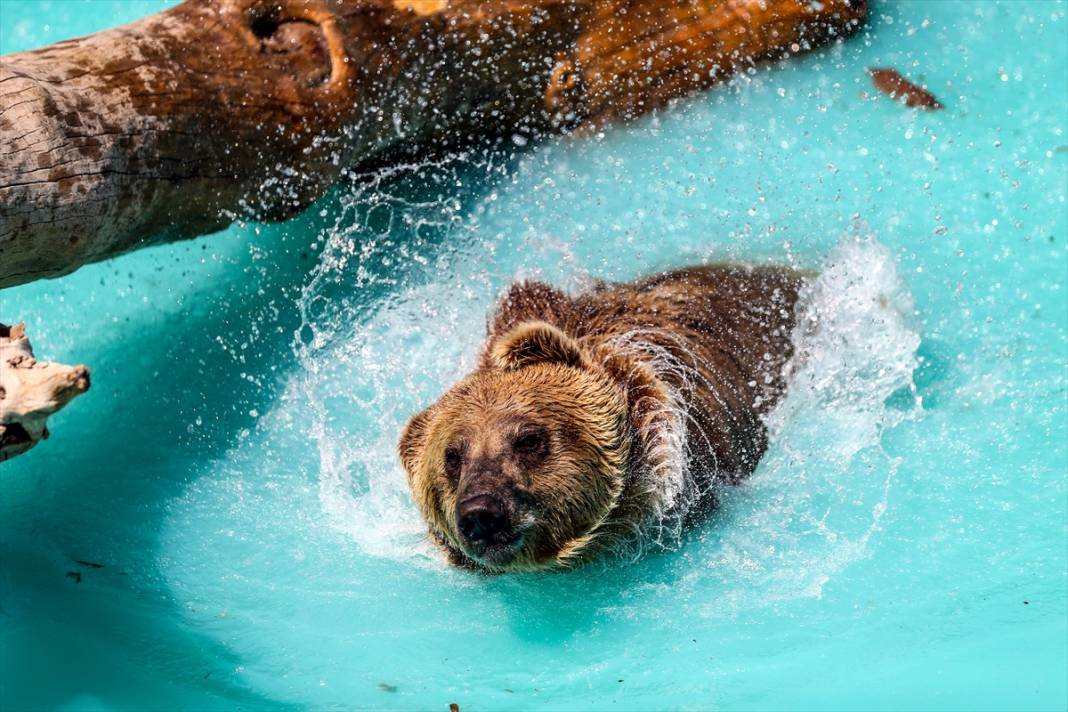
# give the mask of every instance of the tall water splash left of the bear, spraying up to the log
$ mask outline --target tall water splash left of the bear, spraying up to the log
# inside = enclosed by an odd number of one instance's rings
[[[465,308],[472,285],[453,269],[474,235],[457,199],[427,190],[460,181],[472,164],[482,179],[494,168],[455,155],[351,176],[298,300],[303,373],[290,391],[311,412],[319,501],[330,523],[372,555],[437,561],[396,438],[437,395],[433,384],[466,363],[452,347],[476,345],[483,329],[473,318],[481,306]],[[457,330],[471,337],[453,337]]]

